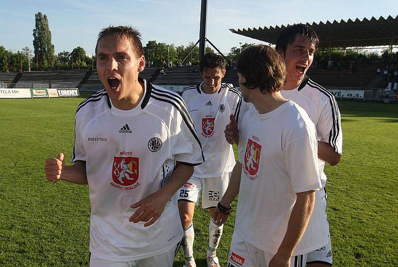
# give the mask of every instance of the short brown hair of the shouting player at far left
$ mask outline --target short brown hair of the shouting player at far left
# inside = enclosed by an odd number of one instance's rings
[[[127,38],[130,41],[131,48],[136,54],[137,57],[141,57],[144,55],[144,49],[142,48],[141,43],[141,33],[134,27],[131,26],[113,26],[109,25],[109,27],[101,29],[100,33],[98,34],[97,38],[97,45],[96,45],[96,55],[98,49],[98,43],[100,39],[108,36],[108,35],[116,35],[117,38]]]

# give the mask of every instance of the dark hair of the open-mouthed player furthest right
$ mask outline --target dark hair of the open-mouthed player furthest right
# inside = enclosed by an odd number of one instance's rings
[[[316,49],[318,49],[319,39],[318,35],[316,35],[316,32],[311,27],[300,23],[288,26],[279,33],[275,50],[286,53],[286,48],[288,47],[288,44],[292,44],[295,42],[297,34],[309,37],[311,39],[311,42],[314,44],[315,51]]]

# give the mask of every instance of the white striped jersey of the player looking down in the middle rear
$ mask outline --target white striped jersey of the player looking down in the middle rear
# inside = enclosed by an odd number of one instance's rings
[[[235,166],[232,145],[225,140],[229,115],[235,114],[241,93],[231,84],[221,84],[215,93],[204,93],[201,85],[189,87],[182,97],[194,122],[203,148],[205,162],[195,167],[199,178],[221,177]]]

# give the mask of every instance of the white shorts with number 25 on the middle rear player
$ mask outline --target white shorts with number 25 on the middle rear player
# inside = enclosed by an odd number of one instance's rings
[[[216,207],[228,188],[231,173],[224,173],[221,177],[198,178],[191,177],[177,191],[178,201],[195,202],[199,205],[200,191],[202,192],[202,208]]]

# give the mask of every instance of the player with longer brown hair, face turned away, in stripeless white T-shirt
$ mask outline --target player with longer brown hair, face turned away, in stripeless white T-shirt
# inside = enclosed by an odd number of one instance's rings
[[[252,107],[241,121],[239,162],[215,210],[216,222],[224,223],[239,193],[228,266],[302,266],[327,236],[321,224],[306,230],[309,218],[322,212],[314,208],[321,187],[315,126],[282,96],[285,64],[274,49],[248,47],[236,70]]]

